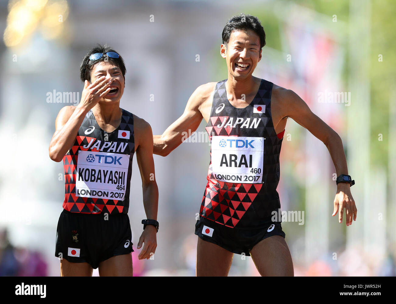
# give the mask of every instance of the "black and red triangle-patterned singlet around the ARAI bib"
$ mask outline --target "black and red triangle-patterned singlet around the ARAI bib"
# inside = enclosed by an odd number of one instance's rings
[[[263,183],[218,181],[213,175],[211,158],[200,215],[231,228],[265,226],[272,210],[280,208],[276,187],[280,178],[279,155],[283,132],[276,134],[272,124],[273,84],[262,79],[251,103],[246,108],[239,109],[233,107],[227,99],[226,81],[227,79],[222,80],[215,86],[211,115],[205,127],[209,140],[212,140],[213,136],[265,138]],[[254,113],[254,105],[262,105],[265,112]],[[243,123],[236,123],[241,119]]]

